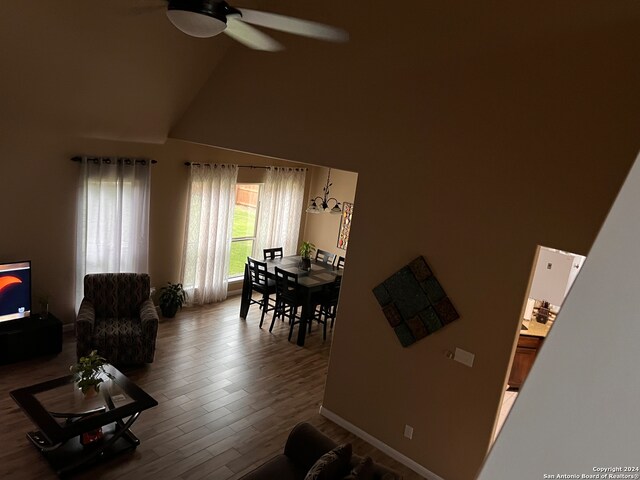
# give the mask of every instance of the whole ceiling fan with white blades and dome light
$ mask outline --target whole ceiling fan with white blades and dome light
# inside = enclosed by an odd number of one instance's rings
[[[224,0],[168,0],[167,17],[192,37],[207,38],[224,32],[249,48],[270,52],[284,47],[250,24],[330,42],[349,39],[349,34],[341,28],[276,13],[235,8]]]

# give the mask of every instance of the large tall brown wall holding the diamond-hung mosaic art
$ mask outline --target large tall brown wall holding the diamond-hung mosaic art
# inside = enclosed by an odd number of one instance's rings
[[[358,172],[323,406],[470,480],[536,245],[587,254],[635,156],[639,7],[425,1],[390,22],[379,0],[323,5],[349,44],[235,52],[172,136]],[[402,348],[371,289],[417,255],[461,318]]]

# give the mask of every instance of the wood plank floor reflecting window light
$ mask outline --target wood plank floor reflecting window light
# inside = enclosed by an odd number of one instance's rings
[[[422,478],[318,414],[330,334],[323,342],[314,326],[300,348],[287,341],[288,325],[278,321],[270,334],[268,322],[258,328],[256,306],[246,321],[238,317],[239,308],[239,297],[232,297],[161,320],[155,361],[123,369],[159,403],[132,427],[140,446],[76,478],[240,478],[280,453],[300,421],[338,442],[352,442],[355,453],[370,455],[405,479]],[[73,335],[66,334],[55,357],[0,366],[0,478],[56,478],[27,440],[34,426],[9,392],[64,376],[74,361]]]

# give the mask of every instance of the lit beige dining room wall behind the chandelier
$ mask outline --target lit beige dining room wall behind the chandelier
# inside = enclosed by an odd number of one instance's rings
[[[328,170],[328,168],[323,167],[313,167],[310,169],[311,186],[309,189],[309,197],[323,196],[322,189],[327,184]],[[329,188],[330,196],[335,197],[340,202],[353,203],[356,195],[357,181],[357,173],[332,169],[331,183],[333,185]],[[307,206],[308,199],[305,208]],[[331,202],[331,206],[333,206],[333,202]],[[303,235],[304,240],[313,243],[316,248],[346,257],[347,251],[337,247],[340,219],[340,215],[326,213],[317,215],[307,214]]]

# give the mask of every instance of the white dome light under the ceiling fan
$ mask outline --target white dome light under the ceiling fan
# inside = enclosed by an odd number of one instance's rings
[[[212,0],[170,0],[169,21],[180,31],[197,38],[215,37],[227,28],[225,2]]]

